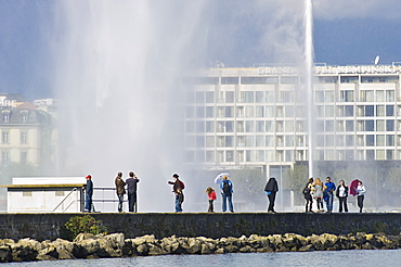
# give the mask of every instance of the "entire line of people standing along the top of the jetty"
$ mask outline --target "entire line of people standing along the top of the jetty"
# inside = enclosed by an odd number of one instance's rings
[[[182,203],[184,202],[184,193],[183,190],[185,189],[185,185],[182,180],[180,180],[178,174],[172,175],[173,180],[168,181],[169,185],[172,185],[172,192],[176,196],[176,213],[182,213]],[[92,177],[88,175],[86,177],[87,185],[83,186],[86,192],[86,202],[85,202],[85,212],[90,213],[92,211],[92,195],[93,195],[93,182]],[[116,193],[118,196],[118,212],[122,212],[122,202],[124,195],[128,192],[128,208],[130,213],[137,212],[137,183],[140,179],[133,171],[129,173],[129,178],[126,181],[122,180],[122,173],[118,173],[115,179],[116,186]],[[221,190],[222,196],[222,212],[227,212],[228,207],[230,212],[234,213],[234,206],[232,202],[233,195],[233,183],[230,180],[229,174],[222,174],[215,179],[215,183],[218,183]],[[127,190],[126,190],[127,187]],[[275,213],[274,211],[274,202],[275,195],[279,192],[279,185],[274,177],[271,177],[266,187],[264,187],[266,194],[269,199],[269,207],[268,213]],[[364,194],[366,189],[362,181],[353,180],[348,187],[344,180],[339,181],[339,185],[336,187],[335,183],[332,181],[331,177],[326,178],[326,182],[323,183],[320,178],[313,180],[313,178],[309,178],[307,185],[305,186],[302,193],[306,200],[305,212],[312,213],[312,204],[313,200],[315,200],[318,209],[315,212],[324,212],[323,203],[326,203],[326,212],[333,212],[333,201],[334,194],[338,198],[339,201],[339,208],[338,212],[348,213],[348,205],[347,205],[347,198],[349,194],[357,195],[358,198],[358,206],[360,208],[360,213],[363,209],[363,201]],[[214,213],[214,201],[217,200],[217,194],[215,189],[208,187],[206,189],[206,193],[208,195],[209,207],[208,212]],[[227,205],[229,204],[229,206]]]

